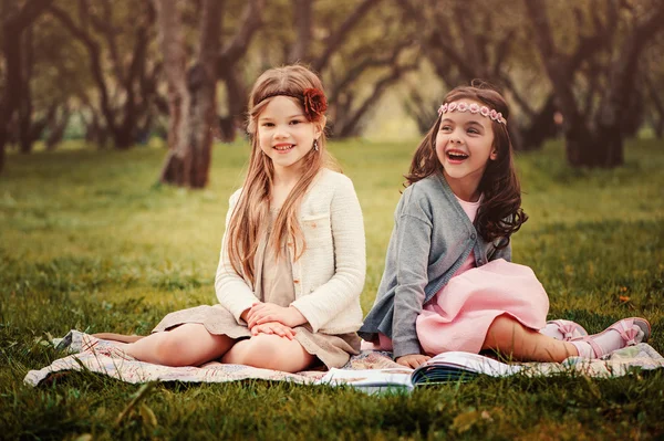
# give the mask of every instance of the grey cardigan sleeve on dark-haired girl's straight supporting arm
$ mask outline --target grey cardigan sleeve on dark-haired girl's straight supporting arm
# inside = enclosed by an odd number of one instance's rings
[[[415,327],[424,304],[424,288],[428,284],[428,255],[432,223],[417,204],[409,204],[398,218],[395,231],[396,291],[392,345],[394,358],[421,354]]]

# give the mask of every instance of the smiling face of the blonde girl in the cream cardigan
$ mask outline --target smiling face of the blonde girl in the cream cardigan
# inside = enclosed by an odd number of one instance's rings
[[[302,158],[320,136],[320,125],[309,122],[290,97],[274,96],[258,115],[258,141],[276,172],[299,171]]]

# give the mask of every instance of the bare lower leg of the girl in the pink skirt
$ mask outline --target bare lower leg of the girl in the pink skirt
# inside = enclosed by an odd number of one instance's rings
[[[537,330],[529,329],[509,315],[496,317],[483,349],[498,350],[521,361],[557,361],[579,355],[569,342],[557,340]]]

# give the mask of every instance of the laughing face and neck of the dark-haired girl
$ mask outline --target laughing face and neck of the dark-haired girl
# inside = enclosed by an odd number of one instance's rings
[[[485,105],[474,99],[460,99],[456,103],[461,102]],[[461,199],[476,200],[479,197],[476,195],[477,187],[487,164],[497,158],[491,119],[470,112],[443,114],[436,135],[436,155],[455,195]]]

